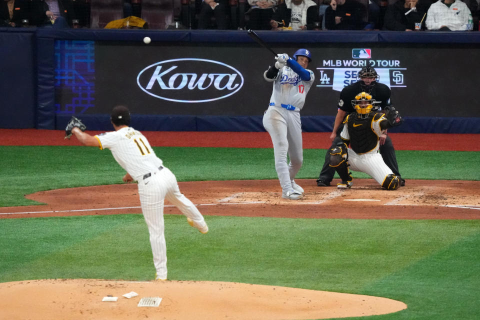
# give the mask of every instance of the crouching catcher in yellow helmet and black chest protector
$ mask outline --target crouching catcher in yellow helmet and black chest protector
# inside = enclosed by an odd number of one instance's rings
[[[400,124],[401,117],[393,106],[387,106],[386,113],[371,111],[374,102],[366,92],[358,93],[351,100],[356,112],[346,116],[340,133],[342,141],[328,151],[329,166],[342,180],[338,188],[351,187],[349,168],[365,172],[384,189],[395,190],[400,186],[400,179],[385,164],[378,147],[382,130]]]

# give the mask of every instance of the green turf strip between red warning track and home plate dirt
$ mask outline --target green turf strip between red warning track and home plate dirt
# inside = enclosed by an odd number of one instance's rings
[[[271,148],[156,147],[179,181],[275,179]],[[36,204],[24,194],[35,191],[121,183],[123,169],[108,150],[84,146],[0,146],[0,206]],[[315,179],[324,149],[305,149],[298,178]],[[406,179],[480,180],[480,152],[396,152]],[[455,159],[454,162],[451,159]],[[353,177],[367,178],[361,172]]]

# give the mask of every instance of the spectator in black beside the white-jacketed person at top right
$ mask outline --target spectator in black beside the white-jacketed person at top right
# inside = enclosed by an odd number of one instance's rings
[[[388,5],[383,22],[384,28],[392,31],[411,31],[415,22],[420,22],[426,8],[418,0],[398,0]]]

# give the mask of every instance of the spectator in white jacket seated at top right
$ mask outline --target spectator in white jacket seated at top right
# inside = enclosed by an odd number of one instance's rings
[[[426,13],[425,26],[428,30],[467,30],[471,12],[460,0],[438,0],[430,5]]]

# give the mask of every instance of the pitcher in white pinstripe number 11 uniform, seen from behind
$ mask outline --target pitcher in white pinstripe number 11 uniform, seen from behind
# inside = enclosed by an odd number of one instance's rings
[[[90,135],[74,127],[71,132],[84,145],[110,149],[115,160],[126,171],[122,180],[138,182],[141,210],[150,233],[155,280],[166,280],[164,199],[175,205],[186,216],[188,224],[201,233],[208,232],[208,226],[196,206],[180,192],[175,175],[163,166],[145,136],[129,126],[128,108],[115,106],[110,119],[115,131]]]

